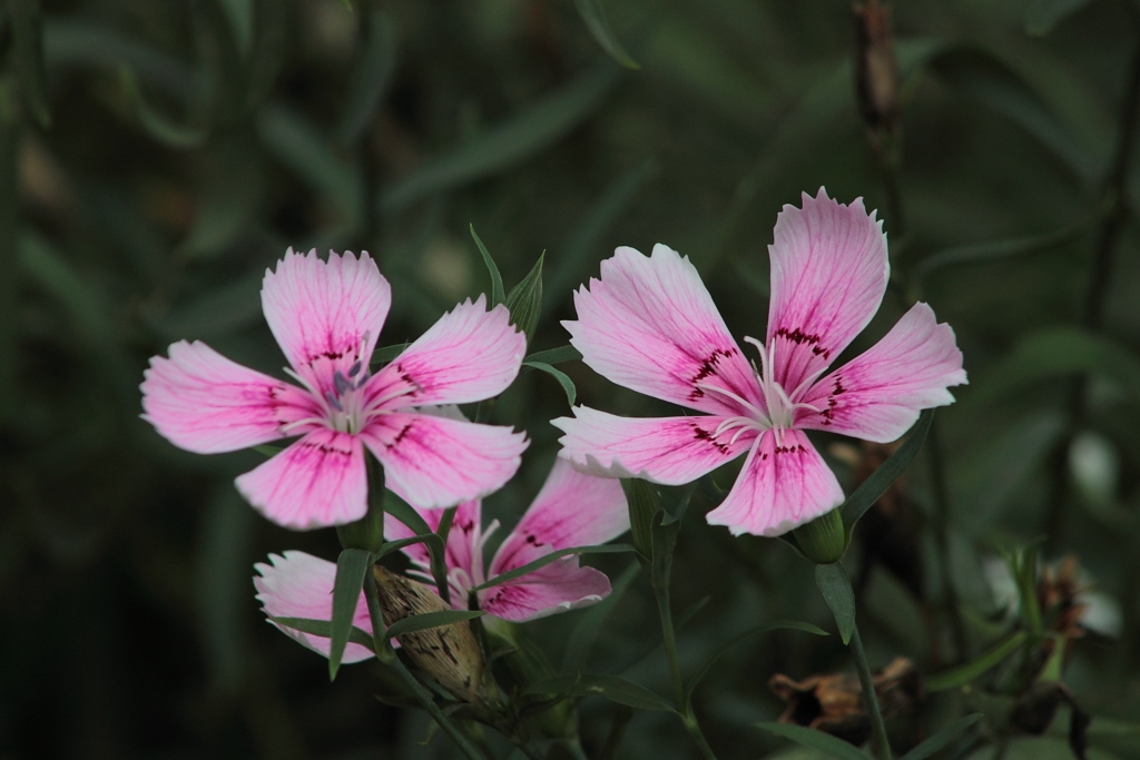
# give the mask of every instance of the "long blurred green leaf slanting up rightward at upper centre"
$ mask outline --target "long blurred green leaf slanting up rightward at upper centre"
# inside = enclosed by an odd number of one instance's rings
[[[597,108],[618,81],[621,70],[608,64],[588,72],[523,113],[429,160],[381,199],[381,210],[408,204],[505,171],[555,142]]]

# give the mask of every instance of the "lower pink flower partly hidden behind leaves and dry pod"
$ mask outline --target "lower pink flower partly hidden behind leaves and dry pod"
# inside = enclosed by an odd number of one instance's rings
[[[418,510],[432,530],[439,528],[440,510]],[[591,477],[556,461],[545,485],[504,539],[490,566],[483,567],[483,545],[498,528],[491,522],[482,530],[481,504],[465,501],[456,509],[448,533],[446,562],[450,581],[451,606],[466,610],[470,591],[486,580],[521,567],[557,549],[604,544],[629,529],[629,513],[621,485],[616,480]],[[413,536],[402,523],[388,516],[388,538]],[[417,574],[434,590],[429,572],[429,554],[422,544],[404,549],[417,567]],[[269,555],[271,565],[256,564],[253,578],[258,599],[267,616],[332,618],[332,589],[336,565],[304,551],[286,551],[284,557]],[[536,571],[477,591],[479,607],[490,615],[522,622],[556,612],[593,604],[610,593],[610,580],[598,570],[583,567],[577,556],[555,559]],[[276,623],[274,623],[276,624]],[[353,624],[370,631],[364,595],[357,604]],[[304,646],[325,656],[328,639],[277,626]],[[345,662],[370,656],[363,646],[349,644]],[[351,657],[351,659],[350,659]]]

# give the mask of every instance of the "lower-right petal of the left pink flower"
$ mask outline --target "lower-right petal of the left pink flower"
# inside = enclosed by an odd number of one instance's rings
[[[519,469],[529,443],[510,427],[414,411],[378,415],[361,438],[383,463],[388,488],[421,509],[497,491]]]

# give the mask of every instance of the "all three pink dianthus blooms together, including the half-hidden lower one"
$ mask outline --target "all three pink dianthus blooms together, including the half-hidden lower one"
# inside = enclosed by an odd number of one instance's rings
[[[618,248],[601,278],[575,294],[564,322],[586,365],[610,381],[681,406],[686,414],[633,419],[588,407],[553,420],[562,450],[534,504],[489,565],[480,499],[515,473],[528,441],[477,424],[454,404],[490,399],[519,373],[526,337],[503,305],[458,304],[390,363],[372,357],[391,288],[367,255],[321,260],[292,250],[267,271],[266,320],[288,367],[287,383],[237,365],[203,343],[155,357],[142,383],[144,418],[174,444],[201,453],[296,438],[236,481],[269,520],[296,530],[365,516],[366,452],[385,484],[435,530],[455,507],[446,547],[453,606],[477,604],[526,621],[595,602],[601,572],[565,556],[494,583],[557,549],[611,540],[629,526],[617,477],[691,482],[744,463],[708,522],[733,533],[777,536],[837,507],[842,490],[806,431],[877,442],[897,439],[921,409],[953,402],[966,382],[953,330],[914,304],[885,337],[829,371],[878,311],[889,273],[886,236],[862,201],[839,204],[821,189],[785,206],[769,246],[772,296],[763,341],[744,337],[749,360],[701,283],[671,248],[651,256]],[[689,414],[697,412],[697,414]],[[389,539],[410,529],[388,516]],[[430,579],[422,544],[404,547]],[[270,618],[331,618],[335,565],[302,551],[270,555],[254,583]],[[368,628],[361,596],[357,624]],[[283,628],[318,652],[328,640]],[[349,644],[344,661],[370,656]]]

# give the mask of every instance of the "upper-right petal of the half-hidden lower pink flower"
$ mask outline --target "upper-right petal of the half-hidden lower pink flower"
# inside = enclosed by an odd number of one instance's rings
[[[619,481],[584,475],[555,459],[543,490],[491,559],[488,578],[555,549],[605,544],[627,530],[629,508]]]

